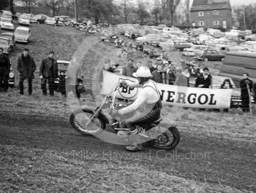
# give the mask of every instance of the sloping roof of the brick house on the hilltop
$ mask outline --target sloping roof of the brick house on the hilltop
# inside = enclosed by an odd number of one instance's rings
[[[217,9],[231,9],[229,0],[194,0],[191,12]]]

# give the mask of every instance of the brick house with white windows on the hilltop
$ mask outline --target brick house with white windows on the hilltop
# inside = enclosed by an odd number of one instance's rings
[[[229,0],[194,0],[190,9],[192,27],[232,27],[232,9]]]

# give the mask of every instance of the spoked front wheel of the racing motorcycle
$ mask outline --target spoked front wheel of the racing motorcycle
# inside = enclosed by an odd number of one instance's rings
[[[91,119],[93,114],[89,109],[76,110],[69,117],[70,125],[83,135],[97,135],[105,130],[106,123],[99,117]]]

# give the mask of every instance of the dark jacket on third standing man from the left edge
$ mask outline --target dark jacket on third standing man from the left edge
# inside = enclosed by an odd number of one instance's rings
[[[40,66],[39,76],[56,79],[58,77],[57,60],[44,58]]]

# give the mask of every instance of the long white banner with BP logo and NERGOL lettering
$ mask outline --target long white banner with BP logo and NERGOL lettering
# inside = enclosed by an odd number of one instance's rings
[[[138,82],[138,79],[132,77],[120,76],[108,71],[103,71],[103,84],[100,94],[109,95],[118,82],[122,80]],[[159,83],[157,83],[157,88],[160,92],[163,104],[202,109],[230,108],[231,89],[178,87]],[[140,89],[140,87],[121,87],[116,97],[135,101]]]

